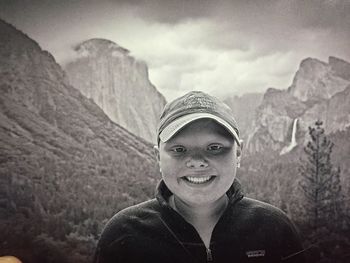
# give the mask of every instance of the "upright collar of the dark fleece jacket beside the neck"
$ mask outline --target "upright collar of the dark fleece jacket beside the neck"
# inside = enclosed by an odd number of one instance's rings
[[[159,204],[161,206],[168,206],[168,200],[172,194],[173,193],[166,186],[163,179],[160,180],[160,182],[157,185],[156,193],[155,193],[156,199],[158,200]],[[243,198],[244,195],[243,195],[242,187],[237,178],[233,181],[233,184],[228,189],[226,194],[229,198],[229,204],[234,204],[236,203],[236,201],[239,201]]]

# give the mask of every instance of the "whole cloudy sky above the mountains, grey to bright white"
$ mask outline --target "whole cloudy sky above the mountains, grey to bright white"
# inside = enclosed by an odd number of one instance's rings
[[[61,65],[84,40],[112,40],[167,99],[285,89],[304,58],[350,62],[350,0],[0,0],[0,18]]]

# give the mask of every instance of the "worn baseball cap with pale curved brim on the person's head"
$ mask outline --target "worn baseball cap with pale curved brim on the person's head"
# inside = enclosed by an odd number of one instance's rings
[[[157,129],[157,141],[167,142],[191,122],[209,118],[222,125],[238,145],[239,130],[229,106],[202,91],[191,91],[165,105]]]

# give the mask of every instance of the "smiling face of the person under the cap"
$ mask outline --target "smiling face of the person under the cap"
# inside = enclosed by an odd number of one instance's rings
[[[159,165],[169,190],[189,205],[218,201],[232,185],[240,148],[213,120],[200,119],[159,145]]]

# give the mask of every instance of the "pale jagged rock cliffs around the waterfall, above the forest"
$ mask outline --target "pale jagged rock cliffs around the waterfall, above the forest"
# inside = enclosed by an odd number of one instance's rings
[[[322,120],[327,133],[350,126],[350,64],[330,57],[301,62],[287,90],[270,88],[256,109],[247,148],[250,153],[266,149],[280,151],[291,142],[293,123],[298,119],[296,137],[303,143],[308,126]]]

